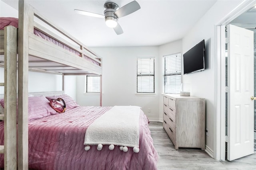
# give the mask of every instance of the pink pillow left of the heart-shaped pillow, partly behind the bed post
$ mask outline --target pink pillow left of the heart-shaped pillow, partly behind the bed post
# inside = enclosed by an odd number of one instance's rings
[[[4,99],[0,99],[0,104],[4,107]],[[56,114],[55,112],[50,106],[50,102],[44,96],[28,98],[28,121]]]

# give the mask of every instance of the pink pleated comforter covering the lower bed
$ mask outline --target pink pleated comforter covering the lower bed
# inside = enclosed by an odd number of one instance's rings
[[[64,113],[29,121],[29,168],[35,170],[156,170],[158,154],[148,128],[148,119],[140,114],[140,152],[119,147],[101,151],[92,146],[84,150],[87,127],[111,107],[78,106]],[[0,122],[0,145],[4,143],[4,122]],[[3,168],[4,154],[0,154]]]

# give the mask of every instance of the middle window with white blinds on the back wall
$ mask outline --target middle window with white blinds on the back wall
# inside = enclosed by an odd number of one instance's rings
[[[137,58],[137,93],[155,92],[155,59]]]

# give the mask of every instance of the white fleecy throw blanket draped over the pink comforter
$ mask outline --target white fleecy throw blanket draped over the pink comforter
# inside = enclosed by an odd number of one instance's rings
[[[86,130],[84,145],[139,147],[138,106],[114,106]]]

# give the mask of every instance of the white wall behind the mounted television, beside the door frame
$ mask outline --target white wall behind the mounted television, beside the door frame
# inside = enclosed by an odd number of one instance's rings
[[[209,137],[206,136],[206,148],[214,153],[214,25],[225,18],[242,1],[217,1],[214,6],[190,29],[182,39],[183,53],[186,53],[194,45],[205,40],[206,70],[182,77],[184,83],[190,83],[191,96],[206,99],[206,128]],[[212,155],[214,156],[214,155]]]

